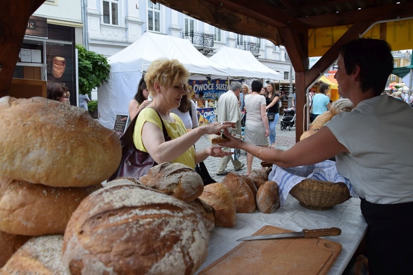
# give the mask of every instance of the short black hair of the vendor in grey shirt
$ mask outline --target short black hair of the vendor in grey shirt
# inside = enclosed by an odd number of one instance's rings
[[[380,95],[386,86],[387,78],[393,71],[394,61],[389,43],[380,39],[358,38],[340,48],[347,75],[356,65],[360,67],[361,90],[373,89]]]

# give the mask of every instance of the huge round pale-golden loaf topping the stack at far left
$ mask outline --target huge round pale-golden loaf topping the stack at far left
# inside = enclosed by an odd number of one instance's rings
[[[41,97],[0,98],[0,175],[50,186],[101,183],[118,168],[118,135],[84,109]]]

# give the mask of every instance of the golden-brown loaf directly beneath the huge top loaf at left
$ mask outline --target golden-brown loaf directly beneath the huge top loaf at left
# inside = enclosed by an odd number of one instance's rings
[[[29,236],[63,234],[82,199],[101,187],[52,187],[0,177],[0,230]]]

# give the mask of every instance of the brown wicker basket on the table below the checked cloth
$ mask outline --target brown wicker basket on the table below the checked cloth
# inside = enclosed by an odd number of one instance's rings
[[[301,206],[312,210],[328,210],[334,205],[350,199],[349,188],[345,183],[332,183],[306,179],[290,190],[291,196]]]

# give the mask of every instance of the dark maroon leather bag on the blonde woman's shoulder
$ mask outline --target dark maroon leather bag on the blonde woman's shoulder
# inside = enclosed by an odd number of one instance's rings
[[[156,110],[155,110],[156,111]],[[156,111],[159,116],[159,113]],[[120,137],[121,147],[122,147],[122,159],[116,172],[109,177],[108,182],[119,178],[119,177],[129,177],[139,179],[141,176],[146,175],[149,169],[158,165],[156,161],[149,155],[149,153],[143,152],[136,149],[133,143],[133,131],[135,130],[136,119],[139,113],[130,122],[125,134]],[[169,141],[172,138],[168,136],[165,124],[161,117],[159,116],[160,122],[162,123],[162,131],[165,141]]]

